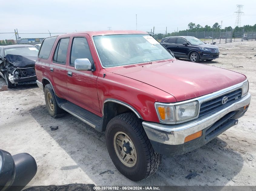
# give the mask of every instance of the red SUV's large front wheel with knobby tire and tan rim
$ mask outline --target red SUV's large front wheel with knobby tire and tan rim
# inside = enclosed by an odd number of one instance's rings
[[[105,136],[111,160],[128,179],[140,181],[151,176],[158,169],[161,154],[154,151],[141,120],[134,113],[123,113],[111,119]],[[125,153],[129,151],[130,153]],[[124,153],[124,157],[118,153]],[[121,159],[126,159],[127,156],[133,159],[129,158],[127,162]]]

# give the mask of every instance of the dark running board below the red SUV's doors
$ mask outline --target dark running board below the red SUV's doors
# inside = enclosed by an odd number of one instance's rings
[[[95,115],[94,113],[91,113],[90,111],[85,110],[84,108],[81,108],[69,101],[62,103],[60,106],[63,110],[77,117],[81,121],[87,123],[89,126],[92,126],[96,130],[101,129],[101,126],[102,126],[101,117]]]

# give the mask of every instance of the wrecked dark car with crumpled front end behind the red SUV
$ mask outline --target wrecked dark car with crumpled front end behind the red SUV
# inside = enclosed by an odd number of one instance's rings
[[[8,88],[18,84],[35,84],[38,49],[32,45],[0,46],[0,75]]]

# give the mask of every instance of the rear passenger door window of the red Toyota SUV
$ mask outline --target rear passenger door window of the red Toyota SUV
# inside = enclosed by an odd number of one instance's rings
[[[66,64],[67,52],[68,52],[69,38],[63,38],[59,40],[59,43],[55,49],[53,62],[60,64]]]

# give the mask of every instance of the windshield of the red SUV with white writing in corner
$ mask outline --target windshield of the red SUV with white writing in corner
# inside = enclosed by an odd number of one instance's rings
[[[115,34],[93,37],[103,67],[174,58],[147,34]]]

